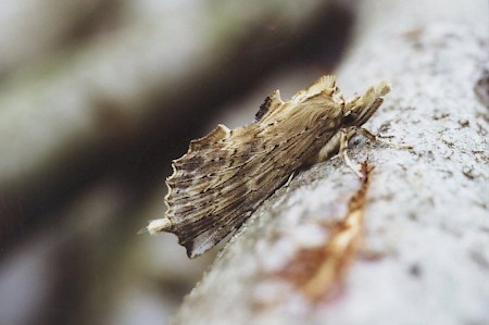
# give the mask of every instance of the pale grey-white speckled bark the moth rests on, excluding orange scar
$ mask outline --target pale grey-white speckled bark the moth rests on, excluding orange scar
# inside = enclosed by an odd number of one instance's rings
[[[334,299],[310,300],[276,274],[324,243],[359,179],[339,160],[313,166],[252,215],[186,298],[174,324],[486,324],[489,320],[486,1],[364,1],[338,71],[393,91],[365,125],[413,150],[354,141],[375,165],[361,252]],[[477,86],[480,90],[480,86]],[[344,91],[347,95],[348,91]]]

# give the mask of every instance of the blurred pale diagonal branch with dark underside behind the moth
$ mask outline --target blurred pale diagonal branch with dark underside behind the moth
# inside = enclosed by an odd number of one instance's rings
[[[218,103],[316,53],[324,42],[308,49],[311,35],[344,41],[337,30],[348,30],[347,12],[329,2],[218,4],[104,34],[3,83],[2,243],[108,171],[151,182],[150,171],[167,166]],[[331,17],[338,25],[327,28]],[[341,43],[331,48],[324,70]]]

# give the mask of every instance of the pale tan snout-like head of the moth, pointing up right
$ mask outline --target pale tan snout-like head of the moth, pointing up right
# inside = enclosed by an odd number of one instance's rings
[[[378,110],[384,101],[384,95],[389,93],[389,83],[383,80],[377,87],[368,88],[363,96],[354,96],[344,104],[343,125],[362,126]]]

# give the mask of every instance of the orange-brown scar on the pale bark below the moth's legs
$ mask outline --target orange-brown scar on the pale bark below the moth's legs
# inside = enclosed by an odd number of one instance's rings
[[[323,246],[300,250],[279,276],[290,280],[313,301],[330,300],[341,289],[341,280],[354,258],[361,239],[368,175],[373,168],[362,163],[360,188],[348,203],[341,221],[329,225],[329,237]]]

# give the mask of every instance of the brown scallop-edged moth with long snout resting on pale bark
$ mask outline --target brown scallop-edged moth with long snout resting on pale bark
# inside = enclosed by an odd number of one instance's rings
[[[376,139],[362,125],[389,91],[380,82],[344,100],[334,76],[321,77],[288,101],[275,90],[253,123],[235,129],[220,124],[173,161],[166,215],[151,221],[148,232],[175,234],[195,258],[238,229],[299,167],[339,153],[359,174],[347,155],[348,141],[355,134]]]

